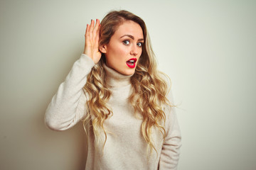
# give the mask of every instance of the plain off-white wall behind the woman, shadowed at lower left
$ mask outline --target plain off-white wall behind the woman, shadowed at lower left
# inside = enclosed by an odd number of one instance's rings
[[[142,17],[169,74],[183,135],[179,170],[256,169],[255,1],[0,1],[0,169],[85,168],[82,124],[44,113],[84,47],[90,19]]]

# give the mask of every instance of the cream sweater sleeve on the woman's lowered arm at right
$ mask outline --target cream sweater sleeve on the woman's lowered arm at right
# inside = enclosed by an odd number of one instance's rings
[[[171,91],[169,91],[167,98],[174,105]],[[181,132],[178,126],[175,107],[166,106],[164,113],[166,114],[166,139],[161,150],[159,170],[176,170],[181,147]]]

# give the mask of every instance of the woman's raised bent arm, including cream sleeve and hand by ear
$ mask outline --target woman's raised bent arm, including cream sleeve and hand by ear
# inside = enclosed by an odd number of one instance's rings
[[[66,130],[73,127],[85,116],[87,101],[83,86],[92,67],[99,62],[101,53],[98,49],[100,38],[100,21],[97,19],[87,24],[85,32],[85,50],[60,84],[57,93],[46,109],[46,125],[53,130]]]

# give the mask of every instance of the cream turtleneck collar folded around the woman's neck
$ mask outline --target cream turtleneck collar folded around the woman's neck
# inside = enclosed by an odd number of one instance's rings
[[[110,87],[121,87],[121,86],[127,86],[131,84],[130,79],[132,75],[127,76],[127,75],[121,74],[116,70],[110,67],[107,67],[106,64],[103,64],[103,67],[107,75],[106,77],[107,84]]]

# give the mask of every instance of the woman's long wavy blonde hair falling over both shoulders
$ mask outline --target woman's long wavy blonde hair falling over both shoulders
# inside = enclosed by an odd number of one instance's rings
[[[110,38],[114,35],[115,30],[124,21],[138,23],[144,35],[142,55],[139,57],[134,75],[131,77],[133,93],[129,96],[129,102],[134,108],[134,115],[139,114],[139,117],[142,118],[141,132],[145,142],[148,144],[148,148],[150,147],[151,150],[154,149],[156,151],[154,142],[151,140],[151,134],[153,128],[158,128],[163,138],[165,139],[166,137],[166,130],[164,129],[166,115],[162,106],[163,104],[169,104],[166,98],[168,90],[166,81],[160,75],[162,73],[156,69],[155,55],[151,48],[149,34],[144,21],[129,11],[111,11],[100,23],[99,47],[110,42]],[[99,142],[100,132],[104,132],[105,142],[107,141],[107,132],[103,124],[112,115],[111,106],[107,104],[112,93],[105,82],[104,63],[105,55],[102,54],[100,61],[95,64],[88,75],[87,83],[84,86],[85,93],[88,96],[88,114],[85,121],[92,121],[92,128],[97,143]]]

